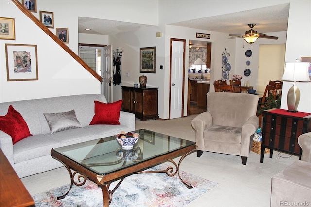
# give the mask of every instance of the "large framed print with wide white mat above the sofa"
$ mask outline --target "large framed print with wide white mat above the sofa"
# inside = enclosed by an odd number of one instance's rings
[[[37,46],[5,44],[8,81],[38,80]]]

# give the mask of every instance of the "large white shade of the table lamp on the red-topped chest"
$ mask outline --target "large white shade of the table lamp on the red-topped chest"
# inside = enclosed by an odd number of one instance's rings
[[[282,80],[310,82],[308,62],[286,62]]]

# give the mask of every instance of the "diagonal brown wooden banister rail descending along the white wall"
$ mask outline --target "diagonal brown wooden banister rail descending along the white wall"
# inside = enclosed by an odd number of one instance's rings
[[[101,81],[103,78],[97,74],[91,67],[89,67],[76,53],[74,53],[65,43],[63,43],[55,34],[52,33],[39,19],[37,19],[28,9],[26,9],[18,0],[11,0],[27,17],[29,17],[35,24],[40,27],[47,35],[49,35],[59,46],[61,46],[71,57],[79,62],[88,72],[90,72],[97,80]]]

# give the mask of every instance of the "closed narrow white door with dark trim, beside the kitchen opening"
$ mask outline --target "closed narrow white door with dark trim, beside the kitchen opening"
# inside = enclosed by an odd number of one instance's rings
[[[184,42],[172,41],[170,119],[182,114]]]

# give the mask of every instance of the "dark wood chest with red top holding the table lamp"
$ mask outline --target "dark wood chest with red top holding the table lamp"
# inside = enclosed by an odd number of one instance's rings
[[[302,149],[298,144],[301,134],[311,131],[311,113],[288,112],[284,109],[269,109],[263,112],[262,144],[260,162],[263,162],[265,148],[298,155]]]

